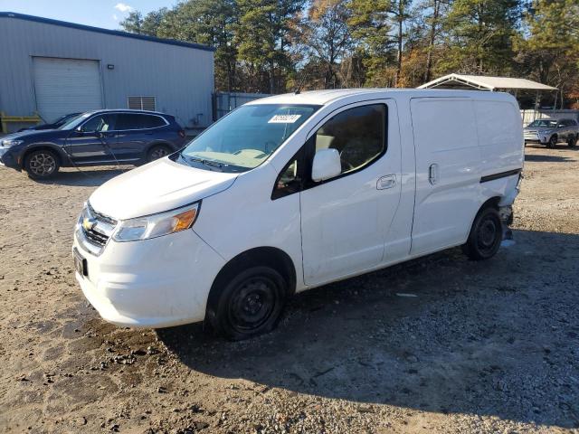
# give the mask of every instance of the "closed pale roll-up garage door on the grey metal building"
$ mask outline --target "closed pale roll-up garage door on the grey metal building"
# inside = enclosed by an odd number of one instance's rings
[[[34,57],[33,69],[36,107],[47,122],[102,109],[99,61]]]

